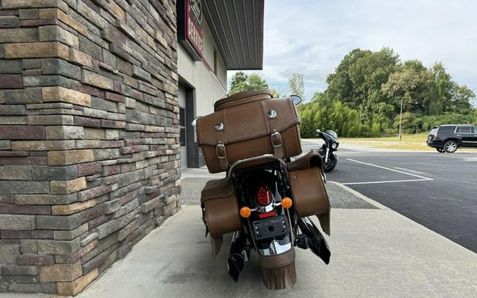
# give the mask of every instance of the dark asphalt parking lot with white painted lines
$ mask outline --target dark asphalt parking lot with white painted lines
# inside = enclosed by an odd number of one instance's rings
[[[317,148],[304,144],[304,151]],[[477,252],[477,150],[378,152],[338,150],[328,174],[365,196]]]

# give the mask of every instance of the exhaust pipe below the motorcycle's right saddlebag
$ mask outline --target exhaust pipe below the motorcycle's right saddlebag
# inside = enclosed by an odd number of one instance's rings
[[[319,256],[326,265],[329,264],[331,252],[329,251],[328,244],[322,233],[319,232],[317,226],[307,217],[302,217],[298,218],[298,227],[300,227],[300,230],[307,236],[307,248],[311,249],[313,254]]]

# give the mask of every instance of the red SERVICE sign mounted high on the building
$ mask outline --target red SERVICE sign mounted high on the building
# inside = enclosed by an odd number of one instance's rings
[[[200,60],[203,54],[204,32],[201,27],[202,6],[200,0],[179,0],[177,11],[179,41],[194,58]]]

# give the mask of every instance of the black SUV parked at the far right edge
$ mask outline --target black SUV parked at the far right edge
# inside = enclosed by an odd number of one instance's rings
[[[469,124],[432,127],[426,141],[440,153],[454,153],[457,148],[477,148],[477,126]]]

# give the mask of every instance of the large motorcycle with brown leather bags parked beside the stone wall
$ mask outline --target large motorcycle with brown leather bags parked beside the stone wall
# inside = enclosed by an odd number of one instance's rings
[[[298,96],[272,99],[248,91],[218,100],[215,112],[196,119],[197,140],[209,172],[227,172],[201,192],[206,236],[216,258],[223,235],[232,233],[228,273],[239,279],[251,251],[257,251],[264,285],[284,289],[296,282],[295,247],[310,249],[329,263],[317,215],[329,234],[330,205],[322,159],[302,153],[295,105]]]

